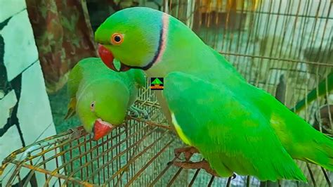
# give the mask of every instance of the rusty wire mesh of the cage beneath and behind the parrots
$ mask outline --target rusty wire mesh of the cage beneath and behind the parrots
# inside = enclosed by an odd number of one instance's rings
[[[192,28],[220,51],[255,86],[292,108],[332,71],[333,1],[169,0],[164,11]],[[296,161],[308,184],[260,183],[252,176],[222,179],[202,169],[169,165],[184,146],[166,125],[155,94],[141,89],[136,106],[150,120],[127,117],[122,128],[91,141],[81,127],[15,151],[1,166],[6,186],[332,186],[332,172]],[[332,96],[299,113],[318,130],[332,134]],[[332,108],[333,109],[333,108]],[[326,114],[326,115],[325,115]],[[325,122],[325,123],[324,123]],[[194,155],[193,160],[200,160]]]

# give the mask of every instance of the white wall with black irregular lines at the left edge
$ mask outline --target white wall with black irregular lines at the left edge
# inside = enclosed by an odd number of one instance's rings
[[[3,46],[0,44],[0,73],[3,74],[0,75],[0,83],[7,82],[7,85],[11,85],[15,81],[20,82],[21,86],[10,86],[12,88],[8,89],[0,84],[0,131],[4,132],[0,134],[0,164],[5,157],[23,145],[30,145],[55,134],[25,0],[0,0],[1,24],[6,26],[0,28],[0,37],[4,41]],[[18,124],[11,124],[8,123],[8,117],[13,115],[15,105],[18,105],[15,112]],[[55,169],[55,163],[50,162],[47,167]],[[6,168],[0,176],[4,180],[3,184],[11,176],[8,172],[13,172],[13,169]],[[27,172],[27,169],[20,172],[21,179]],[[44,184],[44,179],[44,175],[37,174],[39,186]]]

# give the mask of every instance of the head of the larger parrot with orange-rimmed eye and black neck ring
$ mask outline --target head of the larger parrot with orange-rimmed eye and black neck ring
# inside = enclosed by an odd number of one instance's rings
[[[125,8],[103,22],[95,33],[103,63],[115,71],[148,70],[164,50],[164,17],[152,8]],[[119,60],[119,70],[113,60]]]

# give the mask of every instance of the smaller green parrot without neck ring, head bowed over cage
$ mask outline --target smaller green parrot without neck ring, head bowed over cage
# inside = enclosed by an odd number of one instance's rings
[[[128,109],[134,115],[141,112],[147,117],[145,110],[133,106],[142,86],[142,70],[115,72],[100,58],[84,58],[70,72],[70,103],[65,119],[76,112],[84,129],[93,132],[93,139],[98,140],[122,124]]]

